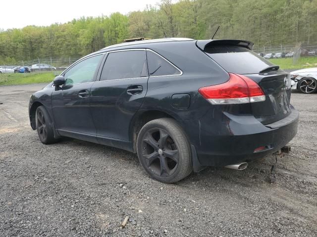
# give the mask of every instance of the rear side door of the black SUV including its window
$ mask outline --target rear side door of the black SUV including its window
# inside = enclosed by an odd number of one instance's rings
[[[148,89],[145,49],[107,53],[99,81],[91,88],[90,108],[101,144],[129,141],[132,117]]]

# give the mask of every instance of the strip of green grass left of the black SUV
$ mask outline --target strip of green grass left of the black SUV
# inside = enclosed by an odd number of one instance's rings
[[[21,85],[53,81],[58,72],[0,74],[0,85]]]

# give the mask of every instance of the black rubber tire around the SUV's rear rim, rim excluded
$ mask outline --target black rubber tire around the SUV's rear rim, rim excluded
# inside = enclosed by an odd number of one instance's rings
[[[179,180],[181,180],[182,178],[184,178],[183,176],[185,174],[183,174],[182,172],[182,166],[184,165],[184,159],[185,158],[190,158],[191,154],[190,154],[190,149],[189,149],[189,143],[187,141],[187,138],[183,133],[183,139],[186,141],[187,143],[187,149],[183,150],[181,149],[181,142],[175,138],[176,134],[174,133],[174,131],[172,129],[170,129],[169,127],[164,126],[163,124],[161,124],[161,119],[155,119],[152,120],[148,123],[146,123],[140,130],[139,134],[138,134],[138,138],[137,138],[137,153],[138,153],[138,158],[139,161],[142,165],[142,167],[144,168],[144,170],[155,180],[158,180],[160,182],[164,182],[164,183],[174,183],[177,182]],[[174,125],[174,124],[173,124]],[[142,158],[142,154],[143,154],[143,148],[142,148],[142,143],[143,143],[143,136],[145,135],[145,133],[153,128],[161,128],[163,130],[165,130],[169,136],[173,139],[173,141],[175,142],[176,146],[177,146],[177,150],[179,152],[179,162],[177,165],[176,170],[174,171],[174,173],[170,176],[167,177],[161,177],[159,175],[156,175],[155,173],[151,172],[149,170],[149,168],[147,167],[147,165],[145,164],[143,158]],[[178,129],[181,130],[181,127],[178,126]],[[187,150],[187,151],[186,151]],[[187,164],[185,164],[187,165]],[[186,177],[186,176],[185,176]]]

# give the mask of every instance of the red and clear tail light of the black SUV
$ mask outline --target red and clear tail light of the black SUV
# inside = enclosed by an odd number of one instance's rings
[[[199,88],[199,93],[211,104],[244,104],[265,100],[261,87],[252,79],[229,73],[227,82]]]

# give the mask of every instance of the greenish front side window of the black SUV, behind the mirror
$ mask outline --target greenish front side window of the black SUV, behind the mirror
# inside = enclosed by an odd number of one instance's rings
[[[77,63],[64,74],[65,84],[69,85],[93,81],[97,66],[103,56],[103,54],[100,54]]]

